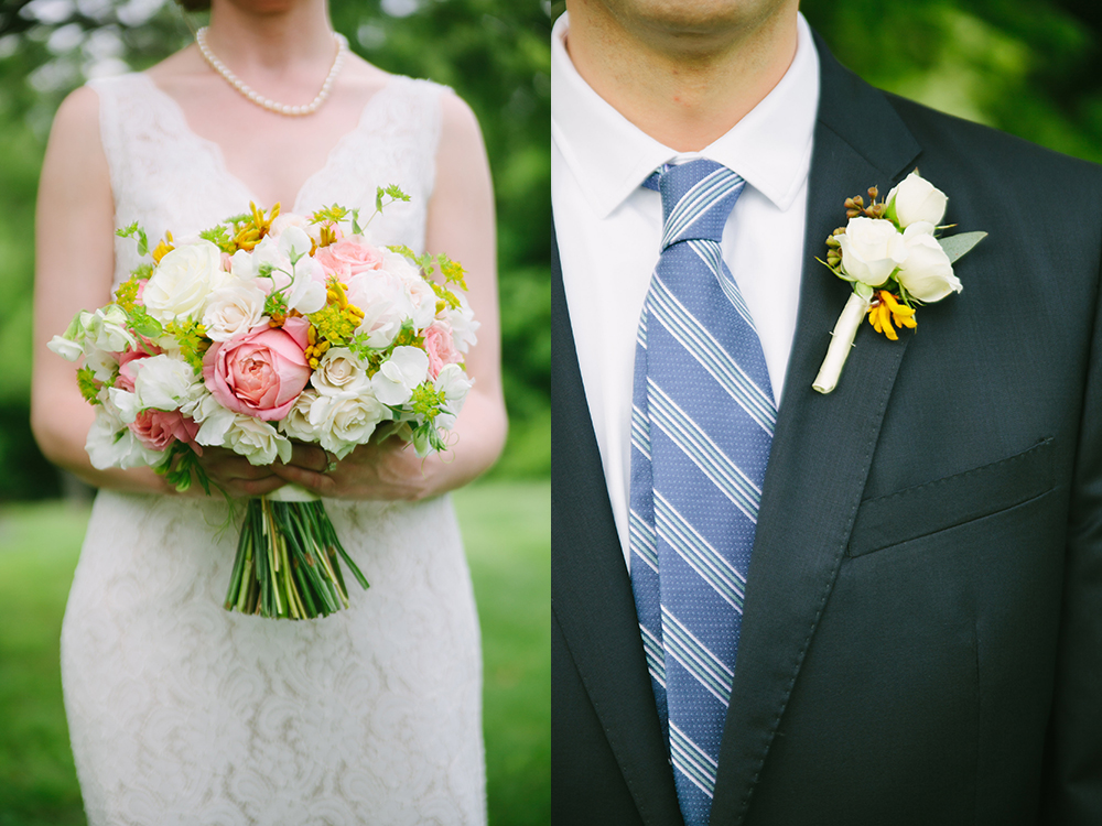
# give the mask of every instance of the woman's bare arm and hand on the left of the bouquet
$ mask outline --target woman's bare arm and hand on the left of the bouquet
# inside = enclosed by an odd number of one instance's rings
[[[99,133],[99,99],[84,87],[57,110],[39,182],[35,220],[34,371],[31,425],[46,458],[89,485],[168,492],[149,468],[97,470],[84,449],[95,412],[77,390],[75,367],[46,348],[82,309],[111,300],[115,202]],[[213,452],[208,472],[235,496],[283,483],[267,468]],[[264,478],[267,477],[267,478]]]

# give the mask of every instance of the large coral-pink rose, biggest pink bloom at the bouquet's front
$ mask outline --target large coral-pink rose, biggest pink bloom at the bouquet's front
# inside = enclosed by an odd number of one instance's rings
[[[203,358],[203,381],[227,410],[272,421],[291,410],[310,380],[305,318],[288,318],[283,328],[255,327],[240,338],[220,341]]]

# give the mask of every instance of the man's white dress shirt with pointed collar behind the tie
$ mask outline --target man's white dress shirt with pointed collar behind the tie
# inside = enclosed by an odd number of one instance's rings
[[[569,25],[563,14],[551,35],[551,204],[585,399],[630,568],[635,338],[662,235],[661,196],[641,184],[663,163],[688,157],[707,157],[746,180],[724,228],[723,258],[760,334],[779,403],[806,263],[819,55],[800,15],[796,57],[780,83],[730,132],[684,155],[628,122],[582,79],[564,46]]]

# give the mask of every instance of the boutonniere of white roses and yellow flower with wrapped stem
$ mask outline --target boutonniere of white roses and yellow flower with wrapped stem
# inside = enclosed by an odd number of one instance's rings
[[[819,259],[853,284],[853,294],[834,325],[827,358],[811,385],[820,393],[829,393],[838,384],[866,315],[877,333],[898,340],[897,328],[917,326],[916,307],[963,289],[953,264],[987,235],[962,232],[939,238],[940,231],[951,228],[938,226],[949,199],[917,170],[883,202],[877,202],[878,195],[876,187],[868,191],[868,206],[860,195],[846,198],[849,224],[831,233],[827,260]]]

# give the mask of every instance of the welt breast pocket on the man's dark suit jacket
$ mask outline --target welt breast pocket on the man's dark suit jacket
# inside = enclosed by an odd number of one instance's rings
[[[857,508],[846,553],[862,556],[998,513],[1052,489],[1052,439],[990,465],[906,488]]]

